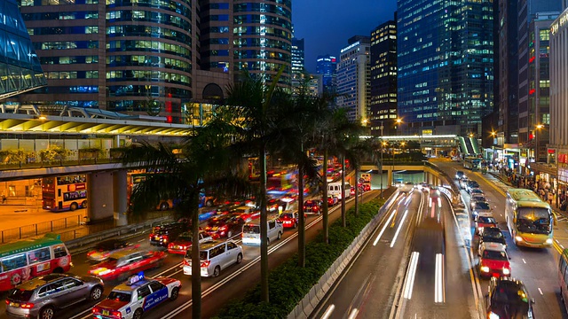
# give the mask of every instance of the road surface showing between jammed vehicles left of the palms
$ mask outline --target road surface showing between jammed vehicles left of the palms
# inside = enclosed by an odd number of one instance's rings
[[[363,195],[364,200],[375,198],[378,191],[369,191]],[[348,207],[353,205],[353,199],[348,200]],[[335,221],[341,216],[340,206],[330,207],[330,222]],[[321,230],[321,216],[309,215],[306,222],[306,240],[312,240],[319,230]],[[278,266],[286,261],[292,254],[297,252],[297,232],[296,230],[286,230],[284,236],[269,246],[269,266]],[[240,236],[234,238],[240,244]],[[130,238],[133,243],[140,244],[140,249],[155,249],[148,243],[147,234]],[[258,281],[260,276],[259,255],[260,249],[256,246],[243,246],[244,258],[241,264],[226,268],[217,278],[203,278],[202,280],[202,315],[204,318],[216,315],[218,310],[225,305],[228,300],[237,299],[243,296]],[[76,275],[87,275],[91,263],[87,261],[85,253],[72,253],[75,267],[71,273]],[[146,276],[171,276],[181,280],[182,289],[179,298],[173,302],[167,302],[160,307],[156,307],[146,313],[146,318],[190,318],[191,317],[191,277],[185,276],[181,268],[181,255],[168,255],[163,261],[162,267],[146,271]],[[108,283],[105,287],[105,295],[114,287],[116,283]],[[0,295],[5,299],[6,293]],[[56,318],[91,318],[91,308],[93,302],[83,302],[75,305],[71,309],[63,310],[56,314]],[[7,318],[5,314],[5,303],[0,303],[0,318]]]

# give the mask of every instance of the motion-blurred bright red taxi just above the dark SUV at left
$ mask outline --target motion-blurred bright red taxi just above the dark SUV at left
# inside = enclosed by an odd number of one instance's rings
[[[164,252],[121,251],[112,253],[106,261],[92,266],[89,274],[104,280],[122,281],[139,271],[160,267],[164,258]]]

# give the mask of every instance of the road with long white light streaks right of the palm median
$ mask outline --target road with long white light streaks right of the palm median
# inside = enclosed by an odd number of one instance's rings
[[[477,318],[452,207],[401,194],[313,318]]]

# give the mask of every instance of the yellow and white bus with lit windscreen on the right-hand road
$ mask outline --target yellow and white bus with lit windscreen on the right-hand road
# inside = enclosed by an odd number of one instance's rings
[[[550,247],[554,218],[550,205],[542,201],[534,191],[507,191],[505,222],[515,245]]]

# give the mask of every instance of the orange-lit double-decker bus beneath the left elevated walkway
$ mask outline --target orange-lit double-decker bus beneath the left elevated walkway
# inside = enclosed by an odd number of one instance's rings
[[[42,178],[42,206],[51,212],[87,207],[87,175]]]

